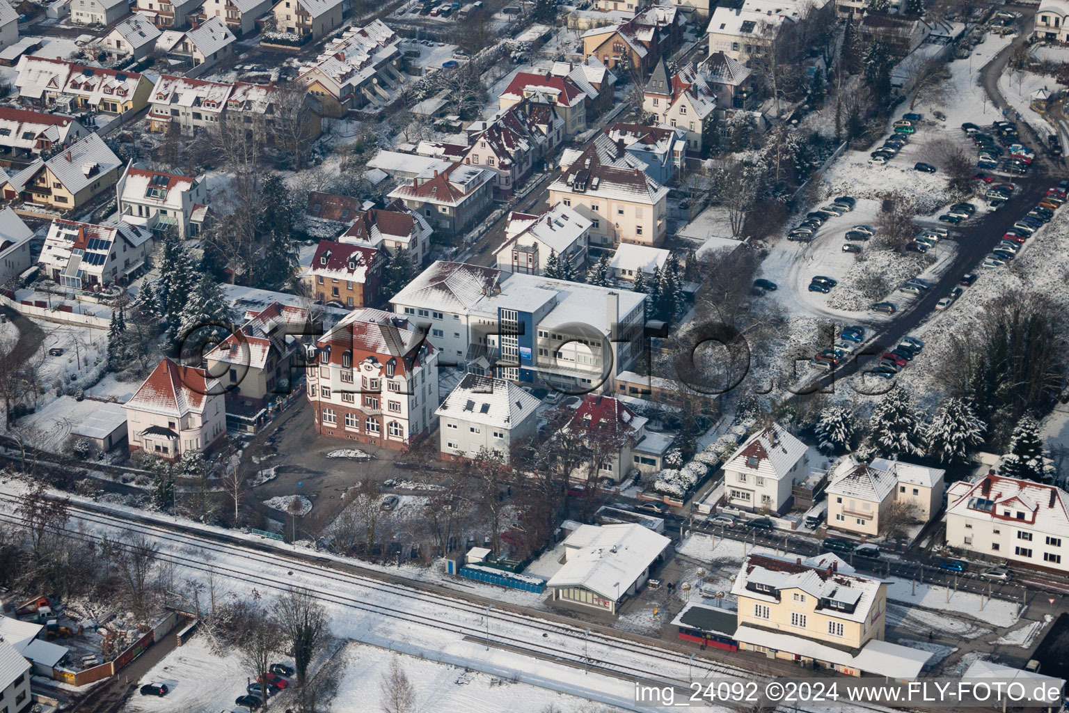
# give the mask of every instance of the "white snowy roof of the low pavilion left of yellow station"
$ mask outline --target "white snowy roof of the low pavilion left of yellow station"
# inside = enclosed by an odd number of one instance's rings
[[[671,543],[663,534],[635,525],[583,525],[564,540],[568,561],[547,583],[583,587],[617,601]]]

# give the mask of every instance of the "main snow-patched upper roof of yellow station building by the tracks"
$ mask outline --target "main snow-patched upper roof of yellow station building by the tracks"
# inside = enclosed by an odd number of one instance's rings
[[[731,593],[760,602],[779,603],[781,592],[803,591],[839,608],[818,604],[830,617],[846,621],[867,621],[883,582],[855,572],[839,572],[837,562],[773,555],[748,555],[731,586]]]

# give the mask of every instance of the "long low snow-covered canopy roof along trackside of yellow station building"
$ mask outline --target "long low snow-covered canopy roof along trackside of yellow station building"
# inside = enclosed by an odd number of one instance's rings
[[[911,649],[879,639],[872,639],[861,651],[851,653],[816,639],[757,629],[748,624],[739,626],[735,630],[734,638],[750,646],[762,646],[776,651],[795,653],[807,658],[828,661],[866,673],[879,673],[892,679],[917,678],[920,669],[932,657],[931,651]]]

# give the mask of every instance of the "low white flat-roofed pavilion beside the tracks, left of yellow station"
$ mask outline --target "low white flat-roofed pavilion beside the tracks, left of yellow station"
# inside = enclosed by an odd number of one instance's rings
[[[641,525],[580,525],[564,540],[564,565],[546,583],[552,602],[615,615],[646,585],[671,540]]]

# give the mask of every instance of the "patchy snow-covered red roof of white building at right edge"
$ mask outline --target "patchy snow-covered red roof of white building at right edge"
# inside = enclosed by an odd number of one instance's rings
[[[973,482],[959,480],[947,489],[946,514],[1069,537],[1069,493],[1031,480],[991,474]]]

